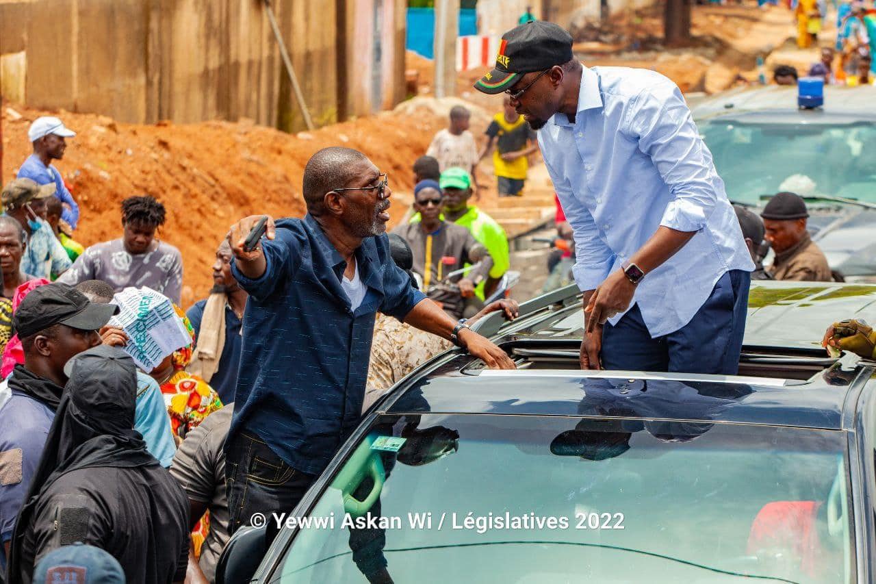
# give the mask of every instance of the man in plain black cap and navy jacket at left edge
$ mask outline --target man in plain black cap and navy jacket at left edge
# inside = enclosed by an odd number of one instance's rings
[[[66,284],[47,284],[25,297],[13,317],[25,364],[0,383],[0,573],[18,511],[43,452],[67,383],[64,365],[99,345],[97,330],[118,308],[93,304]]]

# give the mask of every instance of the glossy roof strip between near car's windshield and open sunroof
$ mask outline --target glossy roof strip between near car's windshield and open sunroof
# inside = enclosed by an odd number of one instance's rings
[[[427,376],[389,414],[617,417],[841,430],[851,383],[597,371],[491,371]]]

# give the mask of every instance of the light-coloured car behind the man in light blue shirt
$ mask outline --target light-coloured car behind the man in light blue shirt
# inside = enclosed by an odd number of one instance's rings
[[[768,86],[692,109],[732,201],[757,211],[780,190],[825,197],[807,201],[809,231],[850,281],[876,281],[874,99],[871,86],[827,87],[822,108],[801,110],[795,87]]]

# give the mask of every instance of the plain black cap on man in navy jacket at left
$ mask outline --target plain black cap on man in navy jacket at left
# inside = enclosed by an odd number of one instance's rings
[[[18,338],[30,337],[55,324],[66,324],[81,331],[97,331],[116,314],[118,307],[115,304],[89,302],[79,290],[54,282],[33,288],[25,296],[12,317],[12,325]]]

